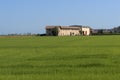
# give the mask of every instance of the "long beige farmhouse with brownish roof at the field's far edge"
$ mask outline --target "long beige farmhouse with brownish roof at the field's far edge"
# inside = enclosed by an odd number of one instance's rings
[[[90,35],[90,27],[88,26],[46,26],[47,36],[79,36]]]

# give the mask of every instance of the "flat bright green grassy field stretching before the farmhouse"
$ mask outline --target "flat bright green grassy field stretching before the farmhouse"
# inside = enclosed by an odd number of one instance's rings
[[[119,80],[120,36],[0,37],[0,80]]]

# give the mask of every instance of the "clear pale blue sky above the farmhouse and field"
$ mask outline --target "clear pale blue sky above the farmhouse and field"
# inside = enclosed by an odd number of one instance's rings
[[[120,25],[120,0],[0,0],[0,34],[45,33],[47,25]]]

